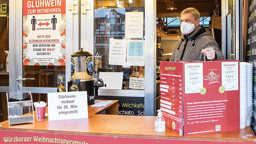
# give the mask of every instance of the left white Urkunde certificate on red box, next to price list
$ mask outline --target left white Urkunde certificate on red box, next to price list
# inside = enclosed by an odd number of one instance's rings
[[[203,87],[203,63],[185,63],[185,94],[200,93]]]

